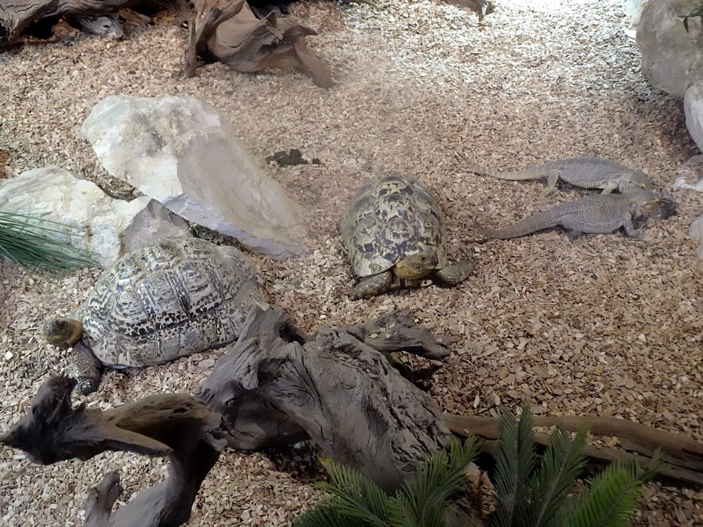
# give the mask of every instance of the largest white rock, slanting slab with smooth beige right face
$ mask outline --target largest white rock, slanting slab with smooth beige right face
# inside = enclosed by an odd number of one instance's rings
[[[111,96],[93,108],[83,135],[112,176],[188,221],[269,256],[305,252],[299,205],[202,100]]]

